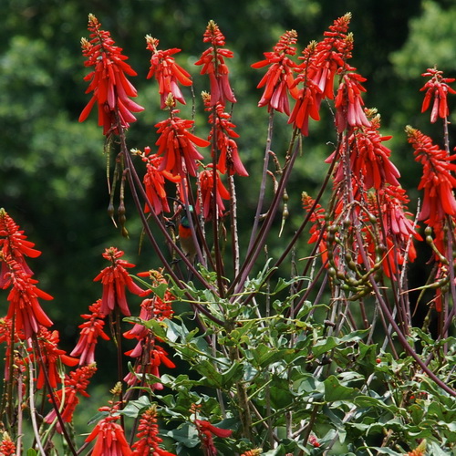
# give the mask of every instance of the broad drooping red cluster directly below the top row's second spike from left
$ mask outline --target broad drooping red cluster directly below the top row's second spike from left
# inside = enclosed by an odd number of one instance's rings
[[[155,125],[161,135],[155,143],[159,146],[158,155],[163,155],[159,171],[169,171],[183,179],[187,172],[196,176],[196,161],[202,160],[202,154],[195,146],[207,147],[210,142],[193,135],[189,129],[193,120],[183,120],[175,116],[179,110],[174,109],[169,119],[162,120]]]

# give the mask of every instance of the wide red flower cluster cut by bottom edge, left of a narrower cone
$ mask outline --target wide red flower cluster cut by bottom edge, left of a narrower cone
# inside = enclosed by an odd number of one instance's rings
[[[133,453],[125,439],[124,430],[114,422],[119,418],[120,415],[109,415],[98,421],[97,426],[86,439],[86,441],[92,441],[97,438],[91,456],[130,456]]]

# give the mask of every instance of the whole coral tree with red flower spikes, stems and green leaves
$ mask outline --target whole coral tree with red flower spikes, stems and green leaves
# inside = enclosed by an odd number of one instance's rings
[[[142,242],[150,242],[156,257],[150,270],[138,273],[118,248],[102,253],[109,264],[93,272],[100,296],[81,316],[80,336],[67,355],[41,303],[51,296],[38,288],[28,265],[40,252],[0,210],[0,285],[8,303],[0,320],[1,454],[454,451],[456,156],[447,99],[455,93],[454,79],[437,68],[422,75],[429,78],[422,110],[432,106],[430,121],[441,120],[444,146],[406,127],[409,160],[423,170],[414,216],[392,162],[391,137],[381,134],[377,110],[365,108],[366,79],[349,64],[350,20],[349,14],[337,18],[299,57],[298,36],[286,31],[252,64],[263,72],[258,115],[267,107],[269,116],[261,170],[245,162],[242,129],[233,123],[242,99],[235,96],[234,55],[219,26],[209,22],[203,34],[209,47],[195,62],[208,90],[193,98],[193,111],[207,117],[209,134],[177,107],[187,104],[192,89],[192,71],[176,62],[180,49],[161,50],[158,38],[146,36],[147,78],[158,83],[152,87],[162,118],[154,144],[142,151],[127,146],[133,113],[143,109],[131,99],[136,72],[98,19],[88,16],[90,40],[82,40],[82,49],[91,98],[79,120],[97,107],[98,125],[116,154],[109,214],[114,220],[119,188],[117,215],[127,234],[128,188]],[[323,118],[328,107],[326,140],[334,150],[326,176],[315,195],[298,189],[301,204],[294,211],[301,222],[275,256],[269,247],[288,223],[288,191],[296,191],[290,177],[295,162],[306,161],[310,119]],[[287,119],[290,142],[274,153],[275,116]],[[236,190],[254,173],[261,174],[256,211],[251,232],[242,233],[237,212],[244,195]],[[409,265],[424,242],[430,277],[410,290]],[[419,326],[412,320],[416,306],[426,314]],[[81,399],[96,378],[99,345],[109,340],[118,351],[112,399],[93,410],[93,428],[74,430]],[[135,345],[127,349],[131,340]],[[28,434],[33,438],[26,440]]]

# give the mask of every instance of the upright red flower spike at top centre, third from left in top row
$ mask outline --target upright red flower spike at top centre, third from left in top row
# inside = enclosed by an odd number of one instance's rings
[[[209,75],[211,83],[211,104],[225,104],[226,101],[236,102],[233,89],[228,78],[228,67],[225,58],[232,58],[233,52],[229,49],[221,48],[225,45],[225,37],[220,31],[219,26],[213,21],[209,21],[203,36],[204,43],[211,43],[212,47],[206,49],[195,65],[202,65],[201,74]]]

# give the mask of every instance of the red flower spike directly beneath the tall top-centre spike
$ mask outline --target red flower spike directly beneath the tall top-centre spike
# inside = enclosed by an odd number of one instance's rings
[[[233,138],[239,138],[239,135],[233,130],[235,125],[231,121],[231,115],[224,112],[222,103],[217,103],[215,108],[211,106],[211,95],[207,92],[202,92],[202,99],[206,110],[210,111],[209,123],[213,125],[208,140],[212,140],[212,135],[215,134],[215,149],[219,152],[219,160],[217,169],[222,174],[238,174],[239,176],[247,177],[249,174],[245,170],[244,165],[239,158],[236,141]],[[214,150],[212,150],[212,157]]]

